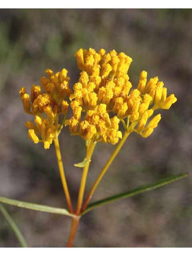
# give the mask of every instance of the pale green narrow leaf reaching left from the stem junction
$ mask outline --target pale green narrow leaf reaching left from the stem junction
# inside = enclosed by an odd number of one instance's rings
[[[64,214],[68,215],[70,217],[74,217],[74,214],[71,214],[68,210],[64,208],[56,208],[56,207],[51,207],[51,206],[46,206],[42,204],[32,204],[32,203],[27,203],[27,202],[22,202],[14,199],[9,199],[0,196],[0,202],[6,203],[6,204],[12,204],[15,206],[31,209],[31,210],[36,210],[36,211],[41,211],[41,212],[51,212],[51,213],[56,213],[56,214]]]

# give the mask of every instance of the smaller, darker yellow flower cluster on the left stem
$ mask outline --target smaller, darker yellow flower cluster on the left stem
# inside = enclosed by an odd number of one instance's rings
[[[26,122],[28,135],[34,143],[43,142],[44,148],[47,149],[56,137],[56,132],[60,127],[58,124],[58,115],[66,114],[69,104],[65,99],[66,95],[70,96],[72,90],[69,89],[70,79],[67,77],[67,70],[63,69],[54,75],[52,70],[47,69],[45,73],[48,78],[41,78],[41,85],[45,93],[42,93],[40,86],[32,85],[31,96],[26,93],[26,88],[22,87],[19,91],[24,110],[27,114],[35,116],[32,122]],[[45,113],[44,117],[42,114]],[[37,134],[40,134],[41,139]]]

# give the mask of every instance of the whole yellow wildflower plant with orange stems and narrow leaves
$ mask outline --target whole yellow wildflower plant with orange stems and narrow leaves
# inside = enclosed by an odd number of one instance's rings
[[[74,56],[81,72],[73,90],[69,88],[70,78],[64,68],[56,74],[47,69],[46,76],[40,80],[42,88],[32,85],[30,95],[24,87],[19,92],[25,112],[35,117],[34,123],[29,121],[25,123],[30,139],[34,143],[42,142],[45,149],[50,148],[54,141],[68,210],[0,197],[0,201],[7,204],[72,217],[67,247],[72,247],[80,217],[86,212],[102,204],[157,188],[188,175],[184,173],[171,176],[89,204],[100,180],[128,136],[132,132],[144,138],[150,136],[161,119],[161,115],[154,112],[158,109],[169,109],[177,99],[174,94],[167,96],[167,89],[163,82],[158,81],[157,76],[147,81],[146,71],[141,72],[137,88],[132,87],[127,74],[132,58],[123,52],[117,54],[112,50],[106,54],[106,51],[101,49],[97,53],[90,48],[88,51],[80,49]],[[66,119],[68,108],[72,109],[73,114]],[[59,123],[60,115],[62,115],[62,121]],[[120,122],[123,124],[124,134],[119,130]],[[72,135],[81,136],[86,146],[84,160],[75,164],[83,168],[76,210],[71,203],[58,141],[64,126],[69,128]],[[91,156],[98,142],[109,142],[117,146],[83,202]],[[16,233],[20,244],[27,246],[22,234],[14,226],[13,220],[2,205],[0,210]]]

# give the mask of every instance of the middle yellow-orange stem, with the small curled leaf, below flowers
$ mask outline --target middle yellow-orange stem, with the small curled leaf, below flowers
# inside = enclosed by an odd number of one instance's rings
[[[96,146],[96,142],[94,143],[92,140],[89,140],[87,150],[86,150],[86,158],[88,160],[91,159],[91,156],[92,156],[95,146]],[[89,164],[90,164],[90,161],[83,168],[81,184],[80,184],[80,189],[79,189],[79,195],[78,195],[77,208],[76,208],[76,212],[75,212],[76,215],[80,214],[80,210],[81,210],[81,206],[82,206],[82,202],[83,202],[86,178],[87,178],[87,173],[88,173],[88,169],[89,169]]]

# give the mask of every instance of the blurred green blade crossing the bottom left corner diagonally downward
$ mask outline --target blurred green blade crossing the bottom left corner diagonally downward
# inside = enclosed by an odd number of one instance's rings
[[[2,212],[2,215],[6,218],[9,226],[11,227],[11,229],[13,230],[16,238],[18,239],[21,247],[28,247],[24,237],[22,236],[20,230],[18,229],[17,225],[15,224],[15,222],[12,220],[11,216],[8,214],[8,212],[6,211],[6,209],[4,208],[4,206],[2,206],[2,204],[0,203],[0,211]]]

